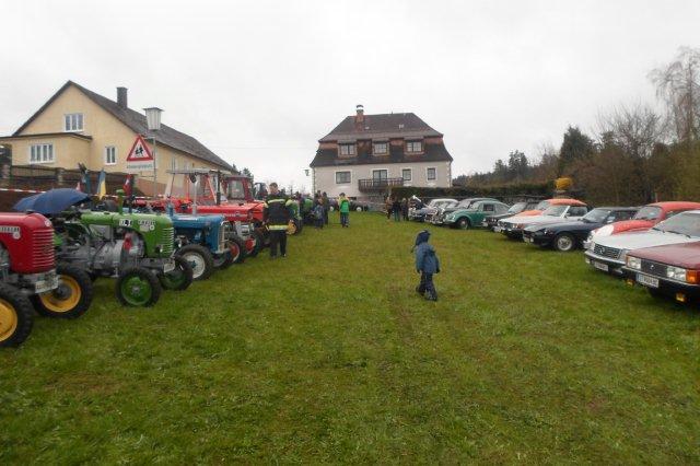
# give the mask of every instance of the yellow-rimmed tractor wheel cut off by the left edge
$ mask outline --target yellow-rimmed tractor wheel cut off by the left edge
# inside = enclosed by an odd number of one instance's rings
[[[32,333],[32,303],[22,292],[0,283],[0,348],[16,347]]]

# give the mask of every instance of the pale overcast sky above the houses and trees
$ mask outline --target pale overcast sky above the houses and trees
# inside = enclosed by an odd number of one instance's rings
[[[311,188],[357,104],[444,133],[453,175],[654,104],[650,70],[700,46],[698,0],[0,2],[0,135],[67,80],[199,139],[256,179]]]

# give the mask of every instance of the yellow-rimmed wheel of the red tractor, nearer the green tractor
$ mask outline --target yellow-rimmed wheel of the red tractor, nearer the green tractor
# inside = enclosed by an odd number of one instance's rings
[[[34,308],[46,317],[75,318],[90,308],[93,296],[92,280],[83,269],[59,264],[58,288],[32,296]]]

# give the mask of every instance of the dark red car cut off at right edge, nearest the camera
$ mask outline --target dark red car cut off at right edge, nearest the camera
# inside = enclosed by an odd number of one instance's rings
[[[630,284],[645,287],[653,296],[680,303],[700,298],[700,242],[631,251],[622,272]]]

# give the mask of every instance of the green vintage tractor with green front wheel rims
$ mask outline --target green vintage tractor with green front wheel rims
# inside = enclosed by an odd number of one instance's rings
[[[55,219],[56,257],[86,270],[93,279],[115,277],[118,300],[128,306],[155,304],[163,288],[185,290],[192,268],[173,254],[174,228],[167,215],[75,211]]]

